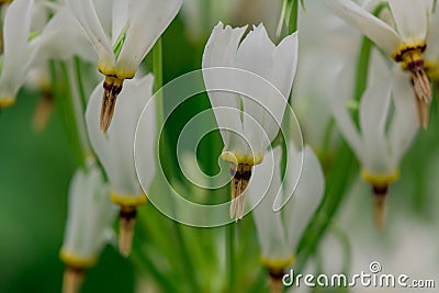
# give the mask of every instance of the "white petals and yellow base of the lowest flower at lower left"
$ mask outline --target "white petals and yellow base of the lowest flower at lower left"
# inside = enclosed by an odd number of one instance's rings
[[[60,251],[63,261],[77,269],[95,263],[116,215],[100,170],[78,170],[69,189],[68,218]]]

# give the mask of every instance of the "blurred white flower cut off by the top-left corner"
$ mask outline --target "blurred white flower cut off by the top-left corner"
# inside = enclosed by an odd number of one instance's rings
[[[49,12],[54,16],[48,20]],[[74,56],[91,61],[95,54],[70,11],[44,1],[13,1],[5,13],[3,36],[0,108],[14,103],[31,69],[44,67],[49,59],[68,60]]]

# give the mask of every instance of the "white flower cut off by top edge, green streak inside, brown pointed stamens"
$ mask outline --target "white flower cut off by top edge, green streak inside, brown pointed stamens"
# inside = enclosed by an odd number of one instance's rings
[[[140,61],[180,10],[182,0],[105,0],[100,3],[104,11],[95,9],[99,1],[66,2],[93,44],[98,68],[105,76],[100,121],[106,132],[123,80],[135,76]]]

